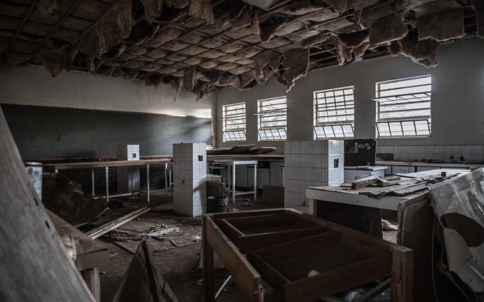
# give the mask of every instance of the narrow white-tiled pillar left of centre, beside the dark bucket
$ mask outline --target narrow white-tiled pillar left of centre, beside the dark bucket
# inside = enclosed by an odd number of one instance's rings
[[[198,156],[202,156],[202,160]],[[174,211],[201,216],[207,208],[206,144],[173,144]]]

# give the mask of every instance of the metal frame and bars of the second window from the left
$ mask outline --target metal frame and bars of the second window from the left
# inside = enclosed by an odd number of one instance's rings
[[[264,102],[281,100],[277,104],[264,104]],[[284,108],[267,110],[269,106],[283,105]],[[270,121],[264,121],[264,118],[268,117],[283,117],[281,120],[272,121],[277,123],[275,126],[266,126],[265,124]],[[288,129],[288,100],[286,96],[271,97],[269,99],[257,101],[257,138],[259,142],[262,141],[277,141],[287,140]],[[278,135],[274,136],[274,132],[277,131]],[[281,133],[283,131],[283,133]],[[263,133],[264,135],[261,135]],[[268,133],[270,133],[270,138]],[[284,138],[285,136],[285,138]]]

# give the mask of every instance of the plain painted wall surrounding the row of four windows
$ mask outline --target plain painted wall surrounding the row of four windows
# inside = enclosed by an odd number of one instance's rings
[[[375,138],[375,83],[418,75],[432,77],[432,135],[430,138],[380,139],[379,145],[482,144],[484,142],[484,40],[460,41],[440,48],[436,68],[425,68],[403,57],[381,57],[348,66],[314,70],[297,80],[289,93],[271,79],[249,91],[234,88],[217,93],[218,117],[222,106],[246,102],[245,144],[283,146],[283,142],[257,142],[257,100],[287,95],[288,140],[313,140],[313,91],[355,86],[355,138]],[[223,143],[218,122],[218,146]],[[241,144],[241,143],[239,143]]]

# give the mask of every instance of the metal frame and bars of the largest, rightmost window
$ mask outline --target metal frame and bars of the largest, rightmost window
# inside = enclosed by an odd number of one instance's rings
[[[397,86],[394,88],[387,88],[381,89],[380,87],[385,84],[398,84],[398,82],[406,82],[413,79],[429,79],[430,82],[428,84],[417,84],[417,85],[409,85],[409,86]],[[416,88],[416,87],[423,87],[423,86],[430,86],[429,91],[419,91],[416,93],[403,93],[403,94],[395,94],[395,95],[385,95],[382,96],[383,92],[391,92],[391,91],[398,91],[400,89],[405,88]],[[402,79],[393,79],[390,81],[378,82],[375,85],[376,97],[373,99],[378,102],[377,105],[377,115],[376,115],[376,122],[375,128],[377,130],[378,138],[418,138],[418,137],[429,137],[431,136],[431,75],[421,75],[418,77],[406,77]],[[423,95],[423,96],[422,96]],[[424,100],[427,99],[428,100]],[[382,111],[381,109],[384,106],[394,106],[400,105],[405,106],[409,104],[429,104],[428,108],[411,108],[411,109],[403,109],[403,110],[393,110],[393,111]],[[389,112],[411,112],[411,111],[429,111],[429,115],[415,115],[415,116],[407,116],[407,117],[380,117],[381,113],[389,113]],[[418,134],[416,122],[427,122],[427,129],[429,134]],[[413,132],[415,134],[409,135],[404,134],[403,125],[404,122],[413,122]],[[390,124],[393,123],[400,123],[400,130],[402,131],[402,135],[400,134],[393,134],[391,131]],[[380,124],[386,124],[390,135],[380,135]],[[400,131],[399,131],[400,133]]]

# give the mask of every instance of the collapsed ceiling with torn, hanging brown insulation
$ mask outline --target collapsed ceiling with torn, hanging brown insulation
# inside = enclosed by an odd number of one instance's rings
[[[250,3],[257,5],[252,6]],[[6,0],[0,63],[170,83],[205,97],[382,55],[438,64],[442,42],[484,37],[481,0]]]

